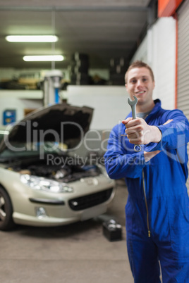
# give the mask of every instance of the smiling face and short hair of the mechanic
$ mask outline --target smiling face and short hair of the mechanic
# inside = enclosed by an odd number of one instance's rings
[[[145,67],[133,68],[128,72],[128,82],[126,89],[133,100],[133,95],[138,99],[138,105],[145,105],[152,103],[152,92],[154,89],[154,82],[150,75],[150,70]]]

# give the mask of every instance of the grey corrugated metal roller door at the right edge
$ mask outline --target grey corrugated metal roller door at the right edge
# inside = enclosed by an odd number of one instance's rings
[[[184,1],[181,8],[178,10],[177,108],[181,109],[189,120],[189,0]],[[189,190],[189,178],[187,187]]]

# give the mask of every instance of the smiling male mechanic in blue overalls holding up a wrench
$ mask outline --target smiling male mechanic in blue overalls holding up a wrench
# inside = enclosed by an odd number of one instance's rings
[[[126,178],[126,231],[135,282],[189,282],[188,120],[179,110],[164,110],[152,99],[154,75],[135,61],[126,72],[137,118],[129,113],[116,125],[105,153],[112,179]],[[135,152],[134,144],[142,145]]]

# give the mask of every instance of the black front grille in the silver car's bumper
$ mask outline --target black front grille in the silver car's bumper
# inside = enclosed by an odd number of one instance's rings
[[[73,210],[91,208],[92,206],[97,206],[98,204],[107,201],[110,198],[112,191],[113,188],[99,191],[94,194],[87,194],[87,196],[80,196],[79,198],[71,199],[68,203],[70,208]]]

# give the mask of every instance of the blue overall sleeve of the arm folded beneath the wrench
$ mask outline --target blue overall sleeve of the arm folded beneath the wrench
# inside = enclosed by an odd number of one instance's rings
[[[133,153],[121,142],[121,134],[116,127],[111,131],[107,151],[104,155],[106,172],[111,179],[140,177],[142,168],[147,164],[144,152]]]

